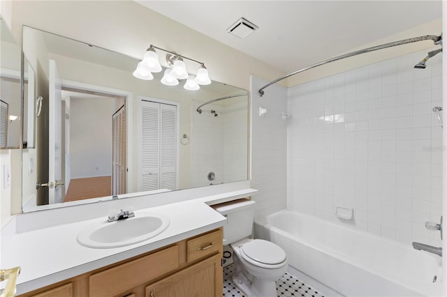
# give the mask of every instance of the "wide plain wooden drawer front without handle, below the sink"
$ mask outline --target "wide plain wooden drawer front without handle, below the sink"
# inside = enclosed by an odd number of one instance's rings
[[[147,280],[177,269],[178,266],[179,248],[175,245],[91,275],[89,296],[115,296],[126,291],[126,288],[137,287]]]

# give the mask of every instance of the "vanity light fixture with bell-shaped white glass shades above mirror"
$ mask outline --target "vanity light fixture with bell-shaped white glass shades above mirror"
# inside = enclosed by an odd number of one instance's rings
[[[170,52],[168,50],[163,50],[162,48],[154,45],[150,45],[150,47],[146,50],[145,56],[143,57],[142,61],[138,62],[137,68],[133,72],[133,76],[139,79],[150,80],[154,78],[152,73],[159,73],[162,70],[159,62],[159,55],[157,54],[156,50],[167,53],[166,63],[168,63],[168,66],[171,67],[165,70],[163,78],[161,79],[162,84],[166,84],[167,86],[176,86],[179,84],[178,79],[186,79],[184,89],[191,91],[200,89],[199,84],[211,84],[211,79],[204,63],[174,52]],[[189,75],[188,70],[186,70],[184,59],[200,64],[196,76]]]

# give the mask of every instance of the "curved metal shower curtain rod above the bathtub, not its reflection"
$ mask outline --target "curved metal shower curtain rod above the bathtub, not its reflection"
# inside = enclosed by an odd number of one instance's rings
[[[259,96],[263,96],[264,95],[264,89],[267,88],[268,86],[271,86],[272,84],[276,84],[277,82],[281,81],[282,79],[286,79],[287,77],[291,77],[292,75],[296,75],[298,73],[302,73],[306,70],[315,68],[317,66],[321,66],[327,63],[331,63],[334,61],[338,61],[341,59],[346,59],[349,58],[351,56],[357,56],[359,54],[366,54],[368,52],[374,52],[376,50],[383,50],[386,49],[388,47],[395,47],[397,45],[406,45],[407,43],[417,43],[419,41],[424,41],[424,40],[433,40],[435,45],[439,45],[442,42],[442,34],[441,36],[436,36],[436,35],[426,35],[426,36],[419,36],[419,37],[413,37],[413,38],[408,38],[408,39],[404,39],[404,40],[399,40],[399,41],[394,41],[393,43],[385,43],[383,45],[376,45],[374,47],[367,47],[363,50],[358,50],[356,52],[350,52],[349,54],[342,54],[341,56],[335,56],[334,58],[330,58],[330,59],[326,59],[323,61],[320,61],[318,63],[314,63],[311,66],[307,66],[305,68],[301,68],[299,70],[295,70],[291,73],[288,73],[287,75],[281,76],[277,79],[274,79],[272,82],[269,82],[268,84],[265,84],[265,86],[263,86],[261,89],[258,90],[258,94]]]

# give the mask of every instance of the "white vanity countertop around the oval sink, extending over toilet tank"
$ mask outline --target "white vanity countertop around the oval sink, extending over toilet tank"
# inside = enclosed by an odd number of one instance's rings
[[[253,192],[257,191],[249,189],[135,210],[136,215],[139,212],[166,215],[170,225],[147,241],[121,248],[86,248],[76,241],[78,233],[98,218],[15,233],[7,236],[7,243],[2,238],[1,266],[21,267],[17,294],[23,294],[222,227],[226,218],[208,205],[247,197]],[[6,282],[1,283],[2,288],[5,285]]]

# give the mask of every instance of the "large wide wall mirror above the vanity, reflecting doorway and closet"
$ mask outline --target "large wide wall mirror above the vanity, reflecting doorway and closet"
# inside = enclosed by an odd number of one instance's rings
[[[138,59],[28,26],[23,52],[24,212],[247,180],[246,90],[138,79]]]

